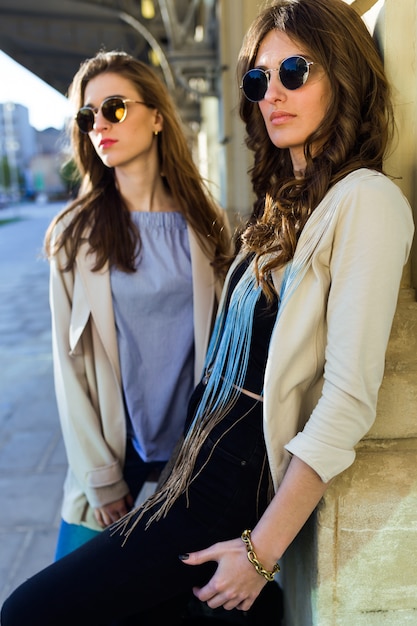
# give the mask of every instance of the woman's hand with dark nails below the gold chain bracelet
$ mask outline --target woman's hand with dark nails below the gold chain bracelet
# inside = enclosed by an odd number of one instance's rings
[[[217,570],[209,582],[201,589],[193,589],[194,595],[212,609],[222,606],[227,611],[235,608],[248,611],[267,583],[249,562],[241,539],[222,541],[180,558],[187,565],[217,562]]]

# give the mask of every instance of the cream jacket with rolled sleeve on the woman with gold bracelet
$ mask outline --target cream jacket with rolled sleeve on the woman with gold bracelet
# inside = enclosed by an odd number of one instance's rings
[[[293,260],[305,274],[283,295],[265,373],[275,488],[292,454],[324,482],[353,463],[375,419],[413,232],[399,188],[364,169],[335,185],[307,222]],[[278,293],[283,274],[273,276]]]

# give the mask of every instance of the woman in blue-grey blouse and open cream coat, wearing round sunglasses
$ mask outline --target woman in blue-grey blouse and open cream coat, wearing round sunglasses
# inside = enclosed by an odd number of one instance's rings
[[[171,456],[230,241],[151,68],[99,53],[70,98],[81,190],[46,236],[69,461],[56,558],[127,513]]]

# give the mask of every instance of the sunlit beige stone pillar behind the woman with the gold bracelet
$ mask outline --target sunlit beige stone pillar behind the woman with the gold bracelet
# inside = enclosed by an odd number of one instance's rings
[[[386,0],[378,38],[394,86],[389,173],[417,203],[416,0]],[[395,236],[395,233],[393,233]],[[417,277],[403,275],[376,422],[284,558],[285,626],[417,624]]]

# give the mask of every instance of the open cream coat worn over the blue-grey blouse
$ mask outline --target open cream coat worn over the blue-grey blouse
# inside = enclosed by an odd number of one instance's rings
[[[62,228],[60,223],[56,234]],[[197,382],[221,285],[188,230]],[[68,523],[100,530],[93,508],[125,496],[128,487],[123,480],[126,422],[110,274],[108,267],[93,272],[94,261],[87,243],[71,272],[59,269],[65,264],[63,250],[51,260],[50,306],[55,390],[69,464],[62,516]]]

